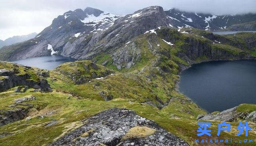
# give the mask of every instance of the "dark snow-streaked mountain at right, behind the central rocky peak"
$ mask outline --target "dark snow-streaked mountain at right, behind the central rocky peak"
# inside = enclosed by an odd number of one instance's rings
[[[164,11],[173,20],[174,27],[193,27],[202,30],[220,31],[234,24],[243,24],[256,20],[256,14],[221,15],[184,12],[175,8]],[[256,30],[255,28],[240,28],[237,31]]]

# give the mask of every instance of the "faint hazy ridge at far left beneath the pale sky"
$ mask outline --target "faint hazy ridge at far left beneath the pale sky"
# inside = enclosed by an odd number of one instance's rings
[[[37,35],[36,32],[28,34],[28,35],[22,35],[22,36],[13,36],[9,37],[8,39],[2,41],[0,40],[0,48],[4,45],[12,45],[14,43],[20,43],[22,41],[26,41],[28,39],[32,39]]]

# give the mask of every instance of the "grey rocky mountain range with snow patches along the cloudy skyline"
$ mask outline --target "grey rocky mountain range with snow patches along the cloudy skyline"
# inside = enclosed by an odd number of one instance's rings
[[[92,59],[102,52],[112,53],[132,38],[154,32],[160,26],[176,28],[178,31],[182,28],[254,30],[255,20],[256,14],[215,16],[175,8],[163,10],[160,6],[144,8],[126,16],[87,7],[58,16],[33,39],[3,47],[0,60],[52,54]]]

